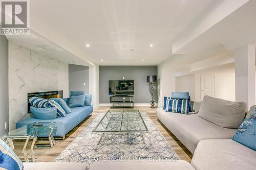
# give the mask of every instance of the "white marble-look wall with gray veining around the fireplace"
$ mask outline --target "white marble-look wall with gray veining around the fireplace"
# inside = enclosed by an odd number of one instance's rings
[[[9,128],[28,116],[27,93],[63,90],[69,94],[68,63],[9,42]]]

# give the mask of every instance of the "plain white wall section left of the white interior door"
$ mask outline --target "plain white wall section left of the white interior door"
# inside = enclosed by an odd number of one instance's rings
[[[195,100],[195,75],[176,77],[176,91],[188,91],[191,100]]]

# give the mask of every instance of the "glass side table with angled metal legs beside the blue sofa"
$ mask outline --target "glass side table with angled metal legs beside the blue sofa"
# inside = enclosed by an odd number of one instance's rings
[[[53,131],[55,128],[55,122],[40,122],[40,123],[32,123],[26,126],[23,126],[21,128],[15,129],[13,131],[4,133],[0,135],[0,138],[4,139],[4,141],[14,150],[14,144],[13,139],[26,139],[22,153],[24,155],[25,162],[29,162],[28,154],[27,154],[27,147],[30,139],[33,139],[30,147],[30,154],[32,162],[35,162],[35,156],[33,148],[40,148],[36,146],[36,141],[38,139],[38,136],[40,134],[47,134],[49,139],[49,147],[53,148],[55,143],[54,137],[53,137]]]

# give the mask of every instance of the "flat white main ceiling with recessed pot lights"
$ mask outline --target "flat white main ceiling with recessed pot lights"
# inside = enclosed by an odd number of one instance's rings
[[[157,65],[172,56],[173,39],[211,2],[33,0],[30,1],[30,25],[34,32],[64,48],[67,53],[89,62]],[[42,41],[41,46],[47,45],[44,43],[47,42]],[[151,43],[153,47],[150,47]]]

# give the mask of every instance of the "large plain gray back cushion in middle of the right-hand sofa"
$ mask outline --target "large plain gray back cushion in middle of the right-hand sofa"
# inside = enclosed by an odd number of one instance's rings
[[[206,95],[197,115],[223,128],[239,128],[245,109],[244,102],[230,102]]]

